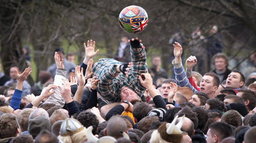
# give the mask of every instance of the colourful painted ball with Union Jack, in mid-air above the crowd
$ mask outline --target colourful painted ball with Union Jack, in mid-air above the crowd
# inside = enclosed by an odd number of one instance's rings
[[[136,34],[146,28],[148,16],[143,8],[129,6],[120,12],[118,21],[123,31]]]

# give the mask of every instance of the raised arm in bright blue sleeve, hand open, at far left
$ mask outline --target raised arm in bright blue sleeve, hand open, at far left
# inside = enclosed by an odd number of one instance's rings
[[[10,101],[10,106],[16,110],[19,109],[20,101],[22,100],[22,87],[23,82],[28,78],[30,73],[32,72],[31,68],[28,67],[24,70],[22,74],[18,74],[17,70],[15,70],[15,75],[17,78],[16,89],[13,93],[12,99]]]

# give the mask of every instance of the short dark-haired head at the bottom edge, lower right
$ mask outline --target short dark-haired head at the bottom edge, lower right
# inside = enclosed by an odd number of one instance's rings
[[[225,122],[215,122],[209,126],[210,133],[212,136],[217,135],[222,141],[224,138],[232,136],[233,130],[229,124]]]

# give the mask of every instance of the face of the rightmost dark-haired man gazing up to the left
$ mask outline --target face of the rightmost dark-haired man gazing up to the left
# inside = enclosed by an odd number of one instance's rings
[[[241,88],[244,84],[241,75],[238,72],[231,72],[227,77],[226,87],[231,89]]]

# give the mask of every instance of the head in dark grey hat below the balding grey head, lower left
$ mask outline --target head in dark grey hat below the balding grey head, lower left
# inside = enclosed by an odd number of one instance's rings
[[[35,138],[41,130],[51,131],[51,127],[52,125],[48,118],[38,116],[29,120],[28,132]]]

